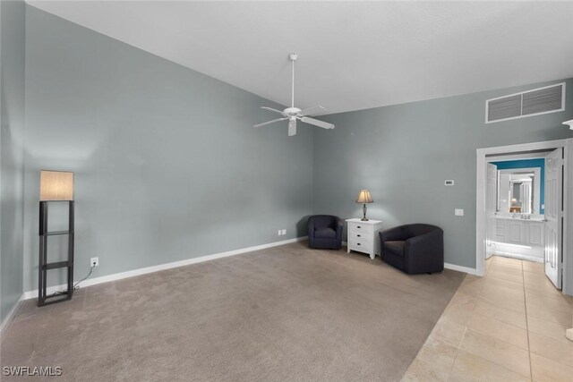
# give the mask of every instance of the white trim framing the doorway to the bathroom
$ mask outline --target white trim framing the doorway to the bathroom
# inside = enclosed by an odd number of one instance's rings
[[[558,148],[563,148],[565,152],[563,161],[565,164],[565,174],[563,174],[563,293],[573,295],[573,198],[571,198],[573,195],[573,138],[476,150],[475,273],[477,276],[483,276],[485,265],[486,156]]]

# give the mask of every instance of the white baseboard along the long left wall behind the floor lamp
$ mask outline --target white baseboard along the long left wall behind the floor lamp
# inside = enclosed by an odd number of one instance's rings
[[[265,250],[267,248],[278,247],[279,245],[285,245],[285,244],[289,244],[291,242],[302,242],[306,239],[308,239],[308,236],[302,236],[302,237],[297,237],[295,239],[283,240],[281,242],[269,242],[268,244],[255,245],[254,247],[241,248],[239,250],[229,250],[227,252],[215,253],[212,255],[205,255],[205,256],[200,256],[200,257],[192,258],[192,259],[174,261],[174,262],[166,263],[166,264],[159,264],[158,266],[142,267],[139,269],[128,270],[126,272],[115,273],[113,275],[89,278],[89,279],[83,281],[80,286],[85,287],[85,286],[90,286],[90,285],[107,283],[107,282],[115,281],[115,280],[121,280],[124,278],[133,277],[133,276],[146,275],[148,273],[158,272],[161,270],[171,269],[174,267],[184,267],[184,266],[188,266],[191,264],[201,263],[203,261],[227,258],[229,256],[235,256],[235,255],[239,255],[239,254],[245,253],[245,252],[252,252],[254,250]],[[67,288],[67,284],[50,286],[47,288],[46,293],[52,294],[52,293],[55,293],[57,291],[63,291],[65,288]],[[28,292],[25,292],[24,294],[22,294],[22,300],[34,299],[37,297],[38,297],[38,289],[35,289],[33,291],[28,291]]]

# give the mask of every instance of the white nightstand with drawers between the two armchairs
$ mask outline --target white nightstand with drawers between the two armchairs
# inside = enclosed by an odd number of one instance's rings
[[[368,253],[370,259],[380,256],[380,238],[378,233],[382,228],[381,220],[362,221],[359,218],[346,219],[348,224],[347,253],[351,250]]]

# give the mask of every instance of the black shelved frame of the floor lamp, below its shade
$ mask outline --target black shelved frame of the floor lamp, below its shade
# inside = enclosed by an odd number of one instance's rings
[[[53,200],[52,200],[53,201]],[[47,206],[50,200],[39,202],[39,261],[38,261],[38,307],[56,302],[72,300],[73,295],[73,200],[69,200],[68,229],[66,231],[47,230]],[[68,235],[68,259],[54,263],[47,262],[47,237]],[[67,267],[67,291],[47,295],[47,271]],[[62,298],[62,296],[65,296]],[[49,299],[49,300],[48,300]],[[54,299],[54,300],[52,300]]]

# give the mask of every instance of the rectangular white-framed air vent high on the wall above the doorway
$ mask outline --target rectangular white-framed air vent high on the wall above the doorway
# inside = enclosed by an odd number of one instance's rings
[[[485,123],[565,110],[565,82],[485,101]]]

